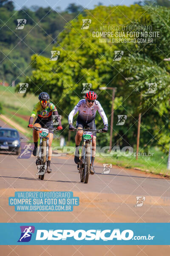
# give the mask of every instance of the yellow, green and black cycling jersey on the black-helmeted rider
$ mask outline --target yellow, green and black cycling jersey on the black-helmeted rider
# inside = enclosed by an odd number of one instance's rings
[[[38,121],[40,121],[40,122],[44,121],[45,123],[46,122],[52,123],[52,121],[53,121],[52,116],[53,115],[57,116],[57,120],[59,121],[59,126],[61,126],[61,120],[59,118],[57,108],[51,102],[48,102],[47,106],[45,108],[42,108],[41,102],[38,102],[33,108],[33,111],[31,113],[31,117],[29,119],[29,124],[32,124],[36,114],[37,114],[37,120],[36,121],[37,122]]]

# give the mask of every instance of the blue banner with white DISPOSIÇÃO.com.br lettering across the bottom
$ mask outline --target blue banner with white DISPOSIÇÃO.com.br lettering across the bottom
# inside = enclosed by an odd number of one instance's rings
[[[0,223],[5,245],[170,245],[170,223]]]

